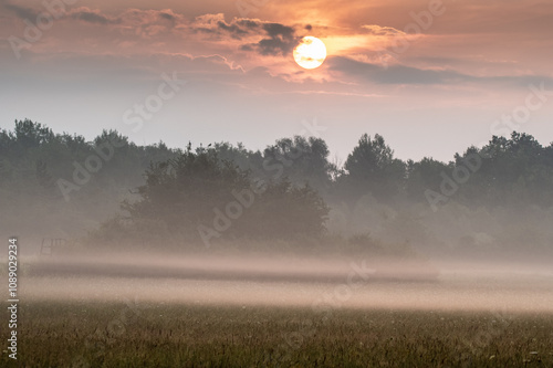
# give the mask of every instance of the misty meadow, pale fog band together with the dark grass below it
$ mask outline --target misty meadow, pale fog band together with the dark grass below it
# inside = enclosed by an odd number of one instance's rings
[[[553,364],[546,259],[28,255],[19,295],[29,367]]]

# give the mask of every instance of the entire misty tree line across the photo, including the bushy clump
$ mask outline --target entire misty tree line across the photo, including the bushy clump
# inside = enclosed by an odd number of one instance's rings
[[[15,120],[13,129],[0,129],[2,217],[18,204],[40,202],[61,218],[87,212],[74,223],[80,227],[117,207],[122,215],[104,230],[205,241],[320,236],[332,209],[354,215],[367,196],[390,209],[424,208],[419,212],[451,202],[490,211],[553,207],[553,144],[523,133],[493,136],[449,162],[398,159],[378,134],[363,135],[342,166],[328,156],[317,137],[282,138],[262,150],[225,141],[168,148],[138,146],[116,130],[88,141]]]

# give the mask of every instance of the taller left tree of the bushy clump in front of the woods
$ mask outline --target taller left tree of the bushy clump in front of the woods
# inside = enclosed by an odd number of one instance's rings
[[[189,145],[179,157],[152,164],[146,183],[138,187],[142,200],[123,207],[135,220],[157,219],[170,230],[195,230],[212,219],[213,208],[231,200],[231,189],[248,186],[247,172],[213,151],[195,154]]]

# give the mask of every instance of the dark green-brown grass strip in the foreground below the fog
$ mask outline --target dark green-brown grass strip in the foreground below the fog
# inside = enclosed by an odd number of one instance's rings
[[[28,302],[19,320],[2,367],[553,367],[551,315]]]

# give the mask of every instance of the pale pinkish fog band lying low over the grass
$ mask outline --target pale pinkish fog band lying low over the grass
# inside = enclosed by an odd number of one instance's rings
[[[109,254],[23,264],[25,301],[553,313],[551,263]]]

